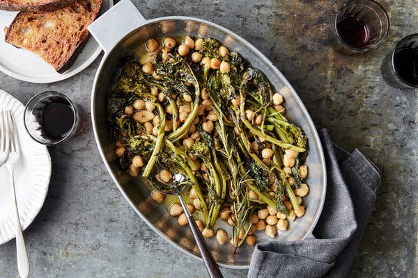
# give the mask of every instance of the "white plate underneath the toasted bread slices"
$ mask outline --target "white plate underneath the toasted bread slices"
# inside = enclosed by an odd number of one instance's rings
[[[102,5],[101,13],[104,13],[113,6],[113,0],[104,0]],[[68,79],[93,63],[102,51],[99,44],[90,36],[75,63],[66,72],[59,74],[36,54],[13,47],[12,44],[4,41],[6,33],[3,29],[13,22],[16,15],[17,12],[0,10],[0,71],[15,79],[32,83],[52,83]]]

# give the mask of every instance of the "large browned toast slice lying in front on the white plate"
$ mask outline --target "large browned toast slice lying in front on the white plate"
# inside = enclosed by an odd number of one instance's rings
[[[88,25],[102,0],[77,0],[54,12],[20,12],[6,32],[6,42],[35,52],[63,73],[75,62],[88,38]]]

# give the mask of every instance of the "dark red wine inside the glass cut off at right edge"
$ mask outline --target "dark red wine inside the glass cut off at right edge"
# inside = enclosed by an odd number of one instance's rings
[[[403,81],[418,85],[418,49],[404,47],[396,51],[394,67]]]

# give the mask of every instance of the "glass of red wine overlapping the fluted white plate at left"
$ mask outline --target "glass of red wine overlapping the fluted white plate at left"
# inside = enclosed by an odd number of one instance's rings
[[[41,92],[26,104],[24,125],[34,140],[56,145],[81,131],[82,113],[60,92]]]

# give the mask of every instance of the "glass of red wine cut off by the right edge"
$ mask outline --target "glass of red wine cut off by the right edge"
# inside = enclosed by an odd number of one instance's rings
[[[381,70],[383,79],[394,88],[418,88],[418,33],[400,40]]]

